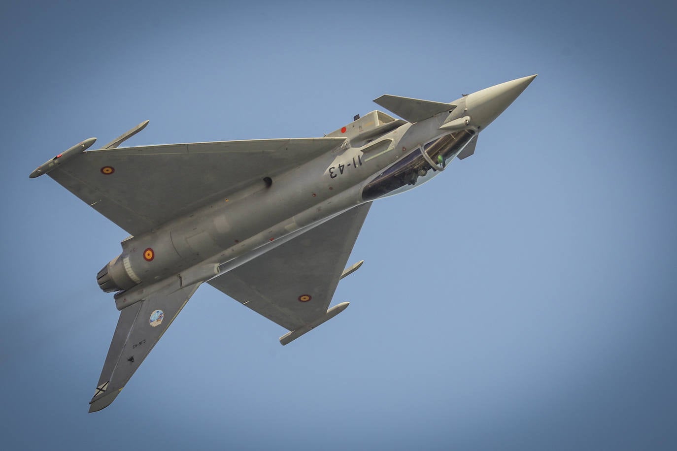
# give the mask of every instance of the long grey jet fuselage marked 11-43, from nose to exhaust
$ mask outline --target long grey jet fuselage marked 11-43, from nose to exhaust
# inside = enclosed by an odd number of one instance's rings
[[[347,137],[332,151],[126,239],[122,254],[104,266],[97,279],[104,291],[121,291],[116,295],[121,309],[141,300],[144,287],[185,275],[191,281],[211,279],[220,268],[230,270],[249,260],[243,256],[261,255],[349,208],[421,185],[523,91],[525,79],[519,80],[517,86],[513,80],[457,99],[448,111],[414,124],[404,122],[373,139],[359,139],[353,131],[358,119],[332,133]],[[462,123],[455,131],[441,128],[463,118],[473,118],[473,123]],[[435,146],[441,148],[435,151]],[[407,167],[397,168],[404,161]],[[379,174],[388,168],[399,172],[380,185],[372,183],[387,178]]]

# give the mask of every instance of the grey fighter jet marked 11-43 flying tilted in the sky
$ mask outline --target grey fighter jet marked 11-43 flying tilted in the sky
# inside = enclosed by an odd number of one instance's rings
[[[451,103],[383,95],[321,138],[101,149],[87,139],[39,166],[130,236],[97,274],[120,318],[89,402],[109,406],[202,283],[288,330],[286,345],[343,312],[330,302],[372,201],[475,152],[536,75]]]

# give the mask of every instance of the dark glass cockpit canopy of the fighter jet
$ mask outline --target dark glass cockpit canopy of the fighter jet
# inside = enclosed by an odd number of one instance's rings
[[[418,147],[365,185],[362,199],[370,201],[426,183],[443,171],[473,137],[475,130],[462,130],[433,139],[423,146],[424,150]]]

